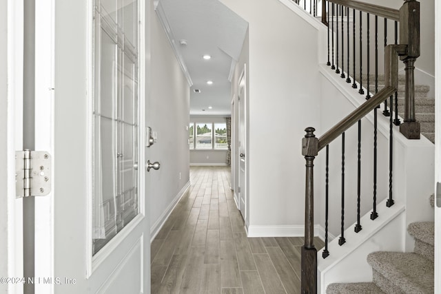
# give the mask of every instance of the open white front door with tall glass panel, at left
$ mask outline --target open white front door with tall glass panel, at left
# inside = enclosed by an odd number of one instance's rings
[[[36,1],[35,293],[149,293],[143,85],[150,1]]]

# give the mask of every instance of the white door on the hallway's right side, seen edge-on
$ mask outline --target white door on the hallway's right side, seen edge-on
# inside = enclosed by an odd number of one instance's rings
[[[244,220],[247,220],[247,183],[246,183],[246,117],[245,117],[245,69],[239,79],[239,210]]]

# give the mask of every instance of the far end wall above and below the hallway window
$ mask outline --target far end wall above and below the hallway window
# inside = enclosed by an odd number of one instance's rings
[[[190,116],[192,123],[225,123],[226,116]],[[190,150],[190,165],[227,165],[227,150]]]

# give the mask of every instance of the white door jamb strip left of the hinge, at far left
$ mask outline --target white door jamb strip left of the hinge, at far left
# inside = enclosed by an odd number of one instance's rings
[[[8,277],[23,276],[23,200],[15,199],[15,151],[23,149],[23,1],[8,0],[3,12],[8,17],[7,41],[7,78],[1,81],[8,92],[7,115],[7,237],[3,240],[6,247]],[[4,227],[2,226],[1,229]],[[3,251],[2,251],[3,254]],[[10,283],[8,293],[23,293],[23,284]]]

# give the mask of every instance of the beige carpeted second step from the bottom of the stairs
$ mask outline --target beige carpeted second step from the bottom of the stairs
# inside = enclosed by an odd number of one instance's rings
[[[378,251],[367,262],[404,293],[433,293],[433,261],[416,253]]]

